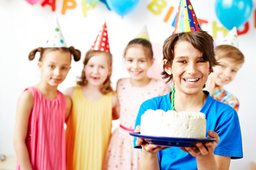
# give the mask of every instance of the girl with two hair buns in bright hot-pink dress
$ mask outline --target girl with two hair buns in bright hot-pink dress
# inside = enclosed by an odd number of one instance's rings
[[[16,169],[66,169],[64,123],[72,102],[57,87],[71,68],[71,55],[75,61],[80,60],[80,51],[67,48],[62,39],[53,44],[54,47],[38,47],[29,54],[29,60],[34,60],[36,52],[41,53],[38,66],[42,80],[26,88],[16,106]]]

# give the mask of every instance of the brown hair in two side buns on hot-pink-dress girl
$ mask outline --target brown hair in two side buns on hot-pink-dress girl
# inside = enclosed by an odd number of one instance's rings
[[[74,47],[68,47],[68,48],[67,47],[38,47],[29,53],[29,60],[34,60],[36,52],[40,52],[41,55],[40,55],[39,61],[42,61],[45,53],[53,52],[56,50],[60,50],[61,52],[69,52],[74,56],[75,61],[80,60],[80,56],[81,56],[80,50],[75,49]]]

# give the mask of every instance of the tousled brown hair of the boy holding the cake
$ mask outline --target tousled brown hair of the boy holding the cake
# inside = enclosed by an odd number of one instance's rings
[[[188,41],[195,49],[202,52],[202,59],[209,61],[210,72],[213,72],[213,66],[218,65],[218,62],[214,58],[214,40],[211,35],[208,35],[205,31],[193,31],[189,33],[173,34],[168,37],[163,44],[163,60],[167,60],[165,66],[172,65],[174,60],[174,47],[178,41]],[[169,83],[173,78],[173,75],[169,75],[167,72],[162,72],[163,79],[168,79],[166,83]]]

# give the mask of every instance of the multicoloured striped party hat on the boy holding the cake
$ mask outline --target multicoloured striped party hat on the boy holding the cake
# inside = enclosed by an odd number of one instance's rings
[[[174,34],[183,32],[201,31],[202,28],[195,16],[195,10],[190,0],[181,0],[176,14]]]

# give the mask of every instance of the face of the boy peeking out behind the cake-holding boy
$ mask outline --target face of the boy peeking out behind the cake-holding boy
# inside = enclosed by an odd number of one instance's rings
[[[220,63],[220,66],[214,66],[214,72],[212,72],[213,75],[211,76],[214,79],[215,84],[220,86],[230,83],[234,79],[236,72],[238,72],[243,65],[235,62],[234,59],[227,57],[218,60],[218,62]]]

